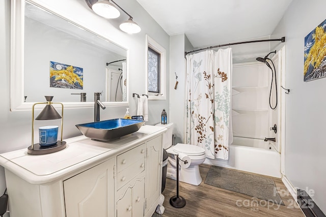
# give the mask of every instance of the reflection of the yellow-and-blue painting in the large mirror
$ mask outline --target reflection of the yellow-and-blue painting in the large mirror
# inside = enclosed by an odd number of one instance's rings
[[[83,68],[50,61],[50,87],[83,89]]]

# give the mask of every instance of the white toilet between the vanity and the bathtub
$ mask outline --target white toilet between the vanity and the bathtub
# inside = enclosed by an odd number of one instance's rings
[[[162,125],[161,123],[158,123],[155,126],[165,127],[168,129],[163,138],[163,148],[166,149],[166,151],[169,153],[167,177],[176,179],[177,163],[175,154],[183,153],[191,159],[191,163],[188,168],[181,167],[180,169],[179,166],[179,180],[189,184],[199,185],[202,182],[202,178],[199,172],[199,165],[202,164],[206,158],[204,148],[196,145],[188,145],[181,143],[173,145],[173,123],[168,123],[167,125]],[[179,161],[179,164],[180,163],[182,162]]]

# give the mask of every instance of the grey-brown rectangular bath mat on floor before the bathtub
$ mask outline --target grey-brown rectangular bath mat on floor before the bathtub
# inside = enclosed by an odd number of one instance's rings
[[[206,184],[284,205],[273,179],[225,167],[211,166]]]

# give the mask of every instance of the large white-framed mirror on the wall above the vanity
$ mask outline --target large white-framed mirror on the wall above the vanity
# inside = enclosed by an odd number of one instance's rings
[[[29,1],[12,1],[11,110],[128,105],[127,49]]]

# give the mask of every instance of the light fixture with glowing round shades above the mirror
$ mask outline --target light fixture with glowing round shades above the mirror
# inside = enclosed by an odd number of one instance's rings
[[[104,18],[117,18],[120,16],[119,10],[109,2],[109,0],[85,0],[87,5],[98,15]],[[120,10],[122,10],[125,14],[129,16],[127,21],[124,21],[120,24],[120,29],[129,34],[139,33],[141,32],[141,27],[134,22],[132,16],[128,14],[125,10],[123,10],[117,3],[111,0]]]

